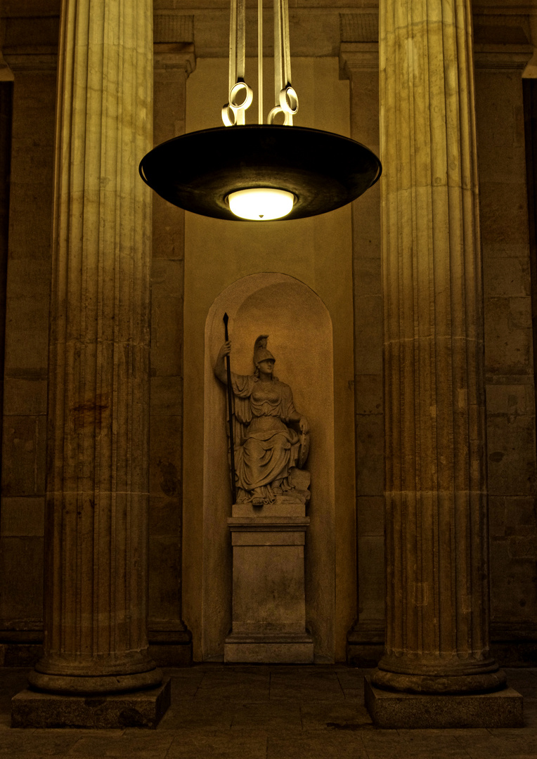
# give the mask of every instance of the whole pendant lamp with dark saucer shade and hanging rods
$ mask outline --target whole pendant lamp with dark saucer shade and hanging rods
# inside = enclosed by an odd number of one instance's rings
[[[141,160],[141,178],[175,206],[230,221],[302,219],[350,203],[381,176],[364,145],[293,126],[288,0],[274,3],[274,106],[263,123],[263,0],[257,0],[257,124],[245,124],[254,96],[245,80],[245,0],[231,0],[229,99],[223,127],[182,134]],[[277,123],[280,121],[280,123]]]

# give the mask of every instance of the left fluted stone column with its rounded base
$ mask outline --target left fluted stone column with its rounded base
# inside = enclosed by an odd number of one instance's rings
[[[45,653],[52,693],[162,681],[147,653],[150,0],[64,0],[49,345]]]

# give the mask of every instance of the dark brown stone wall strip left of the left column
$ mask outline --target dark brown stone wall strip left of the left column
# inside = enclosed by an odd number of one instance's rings
[[[0,636],[43,622],[46,375],[54,160],[55,55],[9,55],[14,72],[0,519]],[[24,649],[23,649],[24,651]]]

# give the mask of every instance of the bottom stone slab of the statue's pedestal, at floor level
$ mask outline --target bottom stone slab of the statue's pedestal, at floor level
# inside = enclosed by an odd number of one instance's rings
[[[313,664],[309,635],[229,635],[224,644],[226,663]]]

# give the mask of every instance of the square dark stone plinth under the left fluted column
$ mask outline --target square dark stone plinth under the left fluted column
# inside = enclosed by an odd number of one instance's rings
[[[11,727],[155,729],[170,704],[169,679],[159,688],[103,696],[60,696],[27,688],[11,699]]]

